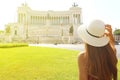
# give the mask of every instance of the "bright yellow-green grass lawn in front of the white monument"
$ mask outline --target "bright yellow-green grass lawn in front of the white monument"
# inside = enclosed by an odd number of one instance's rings
[[[0,80],[78,80],[78,52],[44,47],[0,48]],[[120,61],[118,66],[120,70]]]

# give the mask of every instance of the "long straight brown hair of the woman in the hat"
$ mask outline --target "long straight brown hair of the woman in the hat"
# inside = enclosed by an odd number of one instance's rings
[[[110,44],[94,47],[85,44],[88,75],[96,80],[117,80],[117,57]]]

